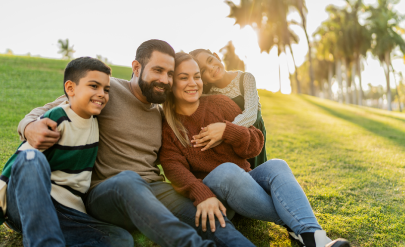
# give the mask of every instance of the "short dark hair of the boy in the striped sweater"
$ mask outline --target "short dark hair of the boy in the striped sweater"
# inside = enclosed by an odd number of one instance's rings
[[[70,63],[65,68],[65,76],[63,79],[63,83],[72,81],[74,83],[79,84],[80,79],[87,75],[89,71],[99,71],[102,73],[111,76],[111,68],[109,68],[106,64],[102,61],[98,60],[97,58],[92,58],[89,56],[82,56],[70,61]],[[68,94],[66,93],[65,86],[64,91],[66,97]]]

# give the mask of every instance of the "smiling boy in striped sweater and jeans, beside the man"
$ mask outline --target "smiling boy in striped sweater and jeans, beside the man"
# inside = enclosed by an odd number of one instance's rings
[[[108,102],[111,69],[80,57],[65,69],[69,101],[40,118],[57,123],[61,138],[46,150],[23,142],[0,176],[0,224],[23,233],[24,246],[134,246],[128,231],[86,214],[98,149],[98,123]]]

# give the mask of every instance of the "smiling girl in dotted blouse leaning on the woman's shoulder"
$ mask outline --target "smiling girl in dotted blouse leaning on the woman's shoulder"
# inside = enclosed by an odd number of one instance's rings
[[[259,129],[264,136],[264,145],[260,154],[254,158],[248,159],[250,168],[254,169],[267,161],[266,156],[266,128],[264,127],[261,115],[261,105],[257,93],[256,81],[252,74],[242,71],[225,71],[221,59],[214,52],[206,49],[196,49],[190,52],[199,63],[201,78],[208,89],[207,94],[223,94],[238,104],[242,109],[242,114],[235,117],[232,123],[236,125],[249,127],[254,126]],[[194,147],[201,147],[203,151],[208,149],[211,144],[219,141],[223,132],[215,129],[215,125],[208,126],[202,130],[200,135],[195,136],[192,143]],[[207,144],[207,140],[211,140]]]

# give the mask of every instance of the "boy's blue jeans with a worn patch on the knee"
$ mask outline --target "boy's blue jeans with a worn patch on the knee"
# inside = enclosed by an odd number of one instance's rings
[[[24,246],[134,246],[128,231],[57,203],[50,190],[45,156],[36,150],[21,152],[7,187],[6,222],[23,233]]]

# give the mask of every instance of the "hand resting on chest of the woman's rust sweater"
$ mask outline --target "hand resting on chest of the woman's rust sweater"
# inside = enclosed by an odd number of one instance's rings
[[[205,151],[219,145],[222,142],[222,135],[225,128],[226,123],[224,122],[211,123],[207,127],[201,128],[202,130],[200,134],[193,136],[194,140],[191,140],[191,143],[195,143],[193,147],[197,148],[205,146],[203,149],[201,149],[201,151]]]

